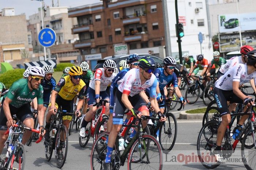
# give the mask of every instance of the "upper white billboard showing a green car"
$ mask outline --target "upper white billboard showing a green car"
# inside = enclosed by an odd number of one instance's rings
[[[240,13],[241,31],[255,30],[256,12],[255,13]],[[223,14],[218,16],[219,33],[236,32],[238,27],[238,14]]]

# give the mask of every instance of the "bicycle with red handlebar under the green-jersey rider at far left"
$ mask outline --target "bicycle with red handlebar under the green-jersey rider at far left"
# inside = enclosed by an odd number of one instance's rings
[[[4,149],[0,156],[0,169],[6,170],[23,170],[25,167],[26,150],[25,146],[21,143],[23,134],[26,130],[34,133],[43,133],[38,130],[28,128],[25,125],[14,124],[14,127],[10,127],[4,135],[9,134],[8,139],[4,143]],[[39,143],[42,140],[42,136],[35,143]]]

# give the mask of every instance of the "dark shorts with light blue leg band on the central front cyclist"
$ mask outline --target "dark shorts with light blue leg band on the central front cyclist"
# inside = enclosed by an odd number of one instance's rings
[[[124,111],[126,109],[125,105],[121,101],[122,98],[122,92],[120,92],[118,89],[116,90],[116,93],[114,94],[114,109],[113,109],[113,124],[123,124],[123,118],[124,118]],[[144,102],[144,100],[140,97],[139,94],[136,94],[135,96],[129,96],[129,101],[131,102],[133,108],[135,108],[138,111],[147,110],[148,108]]]

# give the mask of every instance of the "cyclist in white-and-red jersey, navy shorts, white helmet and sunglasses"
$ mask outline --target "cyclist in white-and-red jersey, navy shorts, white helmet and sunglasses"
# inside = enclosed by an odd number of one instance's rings
[[[109,100],[109,94],[106,92],[107,86],[111,84],[113,79],[113,72],[116,68],[116,62],[112,59],[107,59],[103,63],[103,68],[98,68],[93,76],[93,80],[89,84],[87,90],[87,101],[89,111],[86,113],[80,129],[80,136],[85,137],[87,124],[91,121],[93,114],[95,114],[97,107],[93,107],[95,103],[99,103],[100,98]],[[106,115],[109,115],[109,103],[106,103]],[[110,117],[111,118],[111,117]],[[109,125],[108,125],[109,127]],[[107,127],[107,129],[108,129]]]

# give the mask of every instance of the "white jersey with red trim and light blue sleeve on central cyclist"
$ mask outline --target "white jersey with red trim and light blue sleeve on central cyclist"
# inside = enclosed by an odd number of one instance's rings
[[[139,94],[141,91],[149,88],[150,97],[156,97],[156,87],[157,87],[157,78],[152,74],[151,78],[147,80],[144,84],[140,82],[139,69],[129,70],[121,84],[118,85],[118,90],[122,93],[128,94],[129,96],[134,96]]]

